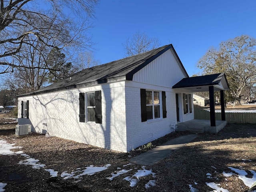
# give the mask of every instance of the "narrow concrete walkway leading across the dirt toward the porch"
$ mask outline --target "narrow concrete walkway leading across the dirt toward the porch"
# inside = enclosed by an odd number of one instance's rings
[[[189,134],[174,138],[163,145],[157,146],[143,154],[131,158],[129,161],[141,165],[153,165],[170,155],[174,150],[179,149],[197,137],[196,134]]]

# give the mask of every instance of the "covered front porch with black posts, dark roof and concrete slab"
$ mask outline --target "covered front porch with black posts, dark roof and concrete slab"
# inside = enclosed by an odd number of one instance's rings
[[[183,78],[172,86],[178,92],[209,92],[210,98],[210,120],[189,120],[178,122],[176,130],[191,131],[197,133],[210,132],[218,133],[227,122],[225,120],[224,90],[228,90],[228,82],[224,73],[210,74]],[[221,120],[215,118],[214,92],[220,91]]]

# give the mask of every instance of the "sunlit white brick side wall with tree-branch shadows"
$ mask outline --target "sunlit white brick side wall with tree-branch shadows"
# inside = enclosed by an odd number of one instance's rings
[[[31,124],[32,131],[47,132],[52,136],[74,140],[101,148],[127,152],[124,82],[53,92],[18,98],[29,100],[29,119],[21,118],[18,124]],[[79,122],[79,93],[102,94],[102,124]],[[47,126],[46,126],[47,124]]]

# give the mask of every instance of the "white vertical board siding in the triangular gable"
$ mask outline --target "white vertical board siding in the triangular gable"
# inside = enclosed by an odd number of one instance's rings
[[[172,50],[167,50],[158,58],[133,75],[132,81],[151,85],[172,87],[187,77]]]

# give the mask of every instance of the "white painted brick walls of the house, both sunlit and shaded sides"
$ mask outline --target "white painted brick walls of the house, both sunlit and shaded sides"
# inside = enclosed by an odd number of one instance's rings
[[[79,122],[79,93],[95,90],[102,91],[102,124]],[[164,90],[167,118],[156,121],[141,122],[140,87],[115,83],[18,98],[18,124],[32,124],[32,131],[44,129],[60,138],[127,152],[173,131],[170,126],[176,121],[175,92]],[[22,100],[30,102],[29,119],[21,118]],[[192,118],[194,113],[182,113],[182,121]]]

